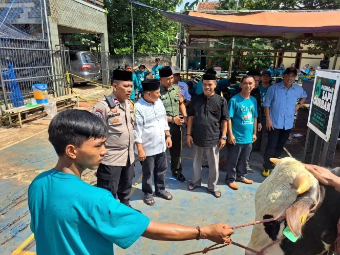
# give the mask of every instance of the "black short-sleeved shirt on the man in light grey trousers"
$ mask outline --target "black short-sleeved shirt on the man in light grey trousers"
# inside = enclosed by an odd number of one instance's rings
[[[217,94],[197,95],[190,101],[188,116],[195,117],[192,132],[195,145],[215,147],[221,136],[222,120],[230,119],[227,100]]]

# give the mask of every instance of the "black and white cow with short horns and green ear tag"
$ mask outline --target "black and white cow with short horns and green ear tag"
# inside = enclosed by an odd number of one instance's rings
[[[263,252],[263,255],[316,255],[334,250],[340,219],[340,192],[320,184],[298,160],[270,159],[275,165],[271,175],[255,195],[256,218],[261,221],[285,219],[254,225],[247,247],[260,251],[283,237],[286,226],[299,239],[288,238]],[[340,177],[340,167],[331,170]],[[256,255],[246,250],[246,255]]]

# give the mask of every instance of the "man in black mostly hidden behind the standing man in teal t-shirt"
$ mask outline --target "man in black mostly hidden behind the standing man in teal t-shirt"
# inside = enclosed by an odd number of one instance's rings
[[[262,106],[261,106],[261,92],[259,90],[259,84],[260,84],[260,72],[256,71],[256,70],[250,70],[248,72],[248,75],[251,75],[252,77],[254,77],[254,89],[250,92],[250,96],[253,96],[256,99],[257,102],[257,108],[258,108],[258,132],[257,134],[260,133],[260,131],[262,130]],[[252,151],[253,152],[258,152],[261,149],[261,145],[259,146],[258,143],[254,143],[253,147],[252,147]],[[250,160],[250,156],[251,153],[249,154],[249,160]],[[252,174],[255,173],[254,169],[250,168],[249,165],[247,165],[247,172]]]

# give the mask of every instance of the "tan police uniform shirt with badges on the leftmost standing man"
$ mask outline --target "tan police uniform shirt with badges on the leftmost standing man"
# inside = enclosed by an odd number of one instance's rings
[[[134,154],[134,104],[126,99],[119,102],[114,93],[111,97],[115,107],[110,109],[105,99],[94,105],[92,113],[101,117],[108,126],[107,141],[103,164],[111,166],[125,166],[130,158],[131,164],[135,161]]]

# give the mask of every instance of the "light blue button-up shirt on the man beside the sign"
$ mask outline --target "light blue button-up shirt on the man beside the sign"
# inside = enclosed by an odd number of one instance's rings
[[[307,97],[306,92],[299,85],[292,84],[287,89],[283,81],[269,87],[263,107],[269,107],[270,118],[274,129],[292,129],[295,105],[299,98]]]

